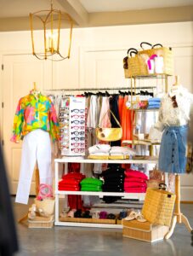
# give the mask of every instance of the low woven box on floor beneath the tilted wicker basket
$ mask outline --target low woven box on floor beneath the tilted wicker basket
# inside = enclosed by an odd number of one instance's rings
[[[147,222],[137,220],[122,220],[122,236],[141,241],[159,241],[167,234],[169,227],[161,225],[152,225]]]

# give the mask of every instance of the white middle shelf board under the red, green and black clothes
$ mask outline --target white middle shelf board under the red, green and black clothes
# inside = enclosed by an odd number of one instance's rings
[[[98,195],[103,196],[121,196],[124,199],[135,199],[143,201],[145,199],[145,193],[126,193],[126,192],[91,192],[91,191],[59,191],[55,190],[55,195]]]

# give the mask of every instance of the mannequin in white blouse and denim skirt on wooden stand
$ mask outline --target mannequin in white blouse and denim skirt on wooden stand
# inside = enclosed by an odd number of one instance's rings
[[[162,107],[159,113],[159,122],[156,128],[163,130],[162,143],[159,155],[159,170],[175,173],[175,210],[173,222],[166,239],[173,235],[176,223],[184,223],[191,231],[188,219],[180,211],[180,176],[185,172],[187,124],[190,119],[190,108],[193,104],[193,96],[179,84],[179,76],[176,76],[175,84],[162,98]],[[185,104],[184,104],[185,102]]]

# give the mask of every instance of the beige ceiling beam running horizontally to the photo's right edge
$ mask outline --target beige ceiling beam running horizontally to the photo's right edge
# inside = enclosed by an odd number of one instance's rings
[[[193,5],[89,14],[88,26],[119,26],[193,20]]]

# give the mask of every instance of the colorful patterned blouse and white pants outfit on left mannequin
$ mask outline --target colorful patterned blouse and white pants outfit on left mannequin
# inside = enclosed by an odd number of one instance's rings
[[[14,129],[11,141],[22,144],[20,178],[16,202],[27,204],[34,168],[39,169],[40,183],[52,184],[51,145],[59,139],[59,124],[54,105],[43,96],[34,84],[30,94],[20,99],[14,116]]]

